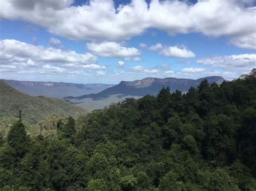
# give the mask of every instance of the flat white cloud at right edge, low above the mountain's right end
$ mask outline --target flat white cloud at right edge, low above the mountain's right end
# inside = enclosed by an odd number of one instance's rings
[[[212,56],[197,60],[197,63],[218,66],[228,70],[249,71],[256,67],[256,54]]]

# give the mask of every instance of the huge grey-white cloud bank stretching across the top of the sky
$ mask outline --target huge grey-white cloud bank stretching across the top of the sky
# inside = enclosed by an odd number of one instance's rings
[[[253,0],[252,0],[253,1]],[[255,9],[250,0],[242,1],[145,1],[130,4],[91,0],[80,6],[73,1],[12,1],[1,2],[0,18],[21,19],[40,25],[49,32],[76,40],[130,39],[155,28],[173,35],[198,32],[212,37],[232,37],[239,47],[247,38],[255,41]],[[247,41],[247,40],[246,40]],[[254,46],[253,46],[254,47]]]

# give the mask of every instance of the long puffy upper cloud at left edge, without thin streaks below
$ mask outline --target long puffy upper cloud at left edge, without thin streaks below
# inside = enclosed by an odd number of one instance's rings
[[[75,51],[62,51],[23,43],[18,40],[5,39],[0,41],[0,59],[11,62],[28,61],[52,63],[77,63],[88,65],[97,62],[97,56],[91,53],[78,54]]]

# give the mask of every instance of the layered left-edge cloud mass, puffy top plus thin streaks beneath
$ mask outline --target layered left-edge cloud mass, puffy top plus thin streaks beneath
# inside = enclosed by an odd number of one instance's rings
[[[0,69],[19,73],[80,74],[86,69],[106,69],[97,64],[97,56],[78,54],[23,43],[14,39],[0,40]],[[4,70],[3,70],[4,69]]]

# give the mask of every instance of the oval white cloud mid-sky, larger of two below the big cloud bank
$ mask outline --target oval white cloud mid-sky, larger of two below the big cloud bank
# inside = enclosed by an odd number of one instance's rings
[[[87,43],[87,49],[95,55],[109,58],[126,58],[140,55],[134,47],[124,47],[115,42]]]

